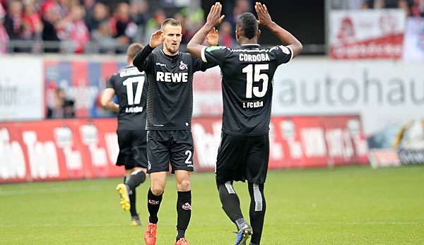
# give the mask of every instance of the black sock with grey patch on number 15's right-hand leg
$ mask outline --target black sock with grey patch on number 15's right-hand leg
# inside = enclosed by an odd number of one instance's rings
[[[249,183],[248,186],[250,194],[250,224],[253,229],[252,239],[250,239],[250,242],[251,244],[259,244],[262,236],[262,228],[264,227],[266,210],[264,184]]]

